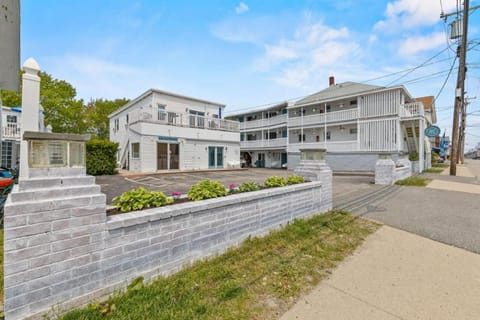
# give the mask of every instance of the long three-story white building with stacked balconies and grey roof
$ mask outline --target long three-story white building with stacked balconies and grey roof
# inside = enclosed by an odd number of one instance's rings
[[[373,171],[383,152],[408,153],[422,171],[430,160],[424,129],[436,121],[432,97],[415,99],[403,86],[335,84],[333,77],[293,104],[228,118],[240,121],[242,159],[252,158],[252,166],[294,169],[300,149],[325,148],[338,171]]]

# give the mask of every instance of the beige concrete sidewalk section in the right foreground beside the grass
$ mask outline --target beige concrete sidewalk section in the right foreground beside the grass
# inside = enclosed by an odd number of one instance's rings
[[[479,319],[480,255],[383,226],[281,320]]]

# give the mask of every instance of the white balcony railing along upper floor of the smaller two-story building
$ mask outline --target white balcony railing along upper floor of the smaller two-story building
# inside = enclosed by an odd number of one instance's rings
[[[147,121],[158,124],[172,125],[177,127],[190,127],[209,130],[222,130],[238,132],[240,130],[239,122],[209,118],[205,116],[182,114],[175,112],[158,111],[152,115],[149,112],[137,112],[130,115],[130,123],[138,121]]]

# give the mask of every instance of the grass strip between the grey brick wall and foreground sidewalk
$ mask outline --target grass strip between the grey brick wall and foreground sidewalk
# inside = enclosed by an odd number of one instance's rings
[[[378,225],[346,212],[297,220],[262,238],[60,319],[274,319]]]

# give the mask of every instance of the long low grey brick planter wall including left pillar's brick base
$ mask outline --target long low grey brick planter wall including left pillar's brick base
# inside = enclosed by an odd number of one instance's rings
[[[111,217],[93,177],[24,180],[5,208],[5,313],[41,318],[225,251],[331,208],[330,183],[188,202]],[[46,186],[46,187],[45,187]],[[328,199],[327,197],[330,197]]]

